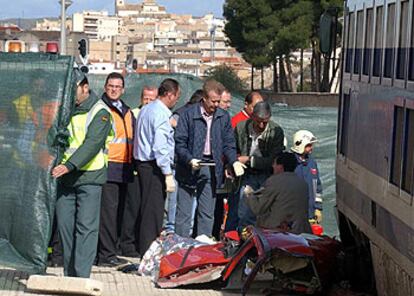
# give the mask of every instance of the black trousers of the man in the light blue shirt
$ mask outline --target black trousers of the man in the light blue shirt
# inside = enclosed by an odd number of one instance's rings
[[[162,230],[166,187],[155,161],[138,161],[137,170],[141,191],[139,253],[144,256]]]

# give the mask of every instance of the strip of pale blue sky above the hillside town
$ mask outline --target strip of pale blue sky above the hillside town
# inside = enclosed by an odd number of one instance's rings
[[[6,18],[38,18],[57,17],[60,15],[58,0],[0,0],[0,19]],[[72,0],[67,14],[82,10],[107,10],[114,13],[115,0]],[[127,3],[138,3],[141,0],[127,0]],[[222,17],[224,0],[157,0],[158,4],[167,8],[168,12],[202,16],[214,13]]]

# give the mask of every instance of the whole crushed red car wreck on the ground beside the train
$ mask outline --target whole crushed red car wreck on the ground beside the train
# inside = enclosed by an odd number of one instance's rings
[[[227,289],[240,289],[245,295],[259,272],[270,272],[272,289],[313,294],[330,282],[340,252],[338,241],[253,226],[246,230],[240,241],[228,235],[214,245],[163,256],[157,285],[171,288],[221,278]]]

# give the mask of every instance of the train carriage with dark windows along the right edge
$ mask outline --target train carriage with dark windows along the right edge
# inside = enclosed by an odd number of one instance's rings
[[[414,0],[345,0],[337,214],[351,283],[414,295]]]

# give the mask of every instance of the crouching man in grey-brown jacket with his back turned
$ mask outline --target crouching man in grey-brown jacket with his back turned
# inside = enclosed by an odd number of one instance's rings
[[[247,195],[256,226],[292,233],[312,233],[308,221],[308,186],[295,174],[296,157],[283,152],[273,163],[273,176],[264,187]]]

